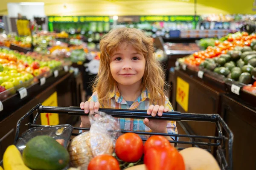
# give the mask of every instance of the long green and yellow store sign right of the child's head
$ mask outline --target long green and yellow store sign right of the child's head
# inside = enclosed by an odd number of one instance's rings
[[[198,21],[199,16],[192,15],[180,15],[180,16],[141,16],[140,21],[164,21],[164,22],[175,22],[175,21]]]

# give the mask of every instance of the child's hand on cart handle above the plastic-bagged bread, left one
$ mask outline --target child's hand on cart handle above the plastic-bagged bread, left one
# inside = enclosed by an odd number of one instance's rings
[[[84,109],[84,113],[88,114],[99,111],[99,102],[81,102],[80,108]],[[88,116],[81,116],[81,126],[80,127],[90,127],[90,121]]]

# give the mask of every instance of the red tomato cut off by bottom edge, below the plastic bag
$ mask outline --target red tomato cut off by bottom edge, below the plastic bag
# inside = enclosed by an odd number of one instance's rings
[[[88,170],[120,170],[118,161],[111,155],[100,155],[94,157],[89,165]]]

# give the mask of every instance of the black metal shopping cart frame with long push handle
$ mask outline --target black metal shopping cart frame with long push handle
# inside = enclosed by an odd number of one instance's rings
[[[18,122],[15,134],[15,144],[19,139],[20,124],[30,116],[34,111],[37,110],[37,114],[33,119],[32,123],[28,123],[29,129],[32,127],[49,127],[44,125],[36,125],[36,121],[40,116],[40,113],[59,113],[59,114],[70,114],[70,115],[85,115],[84,111],[79,107],[49,107],[41,104],[36,105],[32,110],[26,113]],[[221,170],[232,170],[232,147],[233,147],[233,133],[230,128],[224,122],[224,120],[218,114],[194,114],[194,113],[180,113],[180,112],[166,112],[163,116],[152,117],[148,115],[146,111],[142,110],[126,110],[126,109],[102,109],[99,111],[105,112],[116,118],[130,118],[130,119],[162,119],[162,120],[173,120],[173,121],[203,121],[215,123],[218,134],[216,136],[198,136],[198,135],[183,135],[183,134],[172,134],[175,137],[174,141],[169,141],[175,144],[178,150],[182,150],[178,144],[189,144],[191,147],[207,147],[208,151],[212,151],[212,147],[216,150],[216,159],[221,167]],[[73,130],[90,130],[90,128],[73,127]],[[224,130],[224,131],[223,131]],[[134,132],[128,130],[121,130],[122,133],[133,132],[139,135],[162,135],[169,136],[170,134],[165,133],[149,133],[149,132]],[[72,133],[72,136],[77,136],[79,133]],[[189,138],[191,142],[177,141],[177,138]],[[207,140],[208,142],[200,142],[200,140]],[[143,139],[145,141],[146,139]],[[198,142],[199,141],[199,142]]]

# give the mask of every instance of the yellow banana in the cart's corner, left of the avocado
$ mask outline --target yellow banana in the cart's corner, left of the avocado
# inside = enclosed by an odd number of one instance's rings
[[[4,170],[30,170],[24,164],[20,151],[15,145],[7,147],[3,154],[3,169]]]

